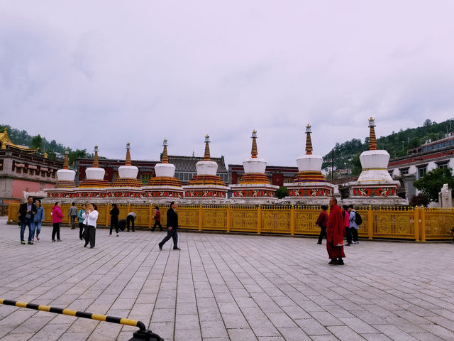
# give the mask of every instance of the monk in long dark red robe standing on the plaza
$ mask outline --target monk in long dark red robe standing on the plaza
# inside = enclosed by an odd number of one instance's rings
[[[338,206],[336,197],[329,200],[330,212],[328,226],[326,227],[326,251],[331,261],[331,265],[343,265],[343,237],[345,236],[345,227],[343,226],[341,207]]]

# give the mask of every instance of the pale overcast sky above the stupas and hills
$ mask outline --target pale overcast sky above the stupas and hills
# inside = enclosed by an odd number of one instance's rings
[[[454,117],[454,1],[3,1],[0,123],[124,158],[296,166]]]

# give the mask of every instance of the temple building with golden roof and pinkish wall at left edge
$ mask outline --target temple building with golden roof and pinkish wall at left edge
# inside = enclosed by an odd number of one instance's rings
[[[8,131],[0,133],[0,205],[23,202],[23,192],[54,188],[62,161],[35,155],[38,149],[13,144]]]

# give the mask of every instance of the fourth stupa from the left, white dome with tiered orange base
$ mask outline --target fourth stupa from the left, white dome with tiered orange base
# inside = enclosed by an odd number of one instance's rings
[[[150,178],[148,184],[143,187],[143,191],[148,197],[153,198],[153,202],[156,200],[169,201],[169,198],[181,198],[184,196],[184,190],[182,183],[175,178],[175,166],[169,163],[167,156],[167,139],[164,139],[162,144],[162,163],[155,165],[156,176]]]

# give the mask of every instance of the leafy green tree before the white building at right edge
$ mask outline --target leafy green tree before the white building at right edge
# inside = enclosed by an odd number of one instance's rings
[[[429,200],[438,202],[438,193],[443,184],[447,183],[448,187],[454,189],[454,176],[450,168],[436,168],[427,172],[423,178],[416,180],[413,185],[428,197]]]

